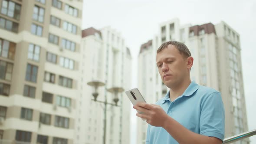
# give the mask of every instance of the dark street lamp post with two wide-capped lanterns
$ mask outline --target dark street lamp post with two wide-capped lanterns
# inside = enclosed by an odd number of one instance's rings
[[[98,101],[97,97],[98,97],[98,87],[99,86],[104,86],[105,83],[103,82],[99,82],[99,81],[92,81],[92,82],[88,82],[87,85],[93,86],[95,88],[95,92],[92,93],[92,96],[94,97],[94,99],[92,99],[93,101],[97,101],[100,103],[104,104],[104,134],[103,134],[103,144],[106,144],[106,124],[107,124],[107,105],[112,105],[112,106],[118,106],[117,102],[118,102],[118,92],[123,92],[124,89],[121,87],[113,87],[113,88],[109,88],[107,89],[108,92],[114,93],[115,97],[113,99],[113,101],[115,102],[115,104],[112,103],[108,103],[107,102],[107,98],[105,97],[105,101]]]

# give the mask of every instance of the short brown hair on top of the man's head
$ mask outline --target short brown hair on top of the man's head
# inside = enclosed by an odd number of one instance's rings
[[[179,50],[182,56],[185,58],[188,58],[191,56],[191,53],[187,46],[184,43],[177,42],[177,41],[169,41],[169,42],[164,42],[161,44],[161,46],[158,48],[157,53],[161,52],[163,49],[167,48],[168,45],[173,45],[176,47],[176,49]]]

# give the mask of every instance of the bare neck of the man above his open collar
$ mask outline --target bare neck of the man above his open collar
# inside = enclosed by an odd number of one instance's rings
[[[175,85],[173,87],[170,88],[170,99],[171,101],[174,101],[177,97],[181,96],[185,90],[187,89],[187,87],[190,85],[191,80],[187,80],[184,81],[182,83],[180,83],[179,85]]]

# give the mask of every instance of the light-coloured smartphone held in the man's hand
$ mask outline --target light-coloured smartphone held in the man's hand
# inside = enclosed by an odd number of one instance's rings
[[[138,90],[138,88],[133,88],[131,90],[128,90],[125,92],[125,94],[130,99],[132,105],[136,105],[138,102],[146,102],[143,96],[141,95],[141,92]],[[138,111],[138,113],[142,113]],[[147,120],[145,118],[141,118],[143,121]]]

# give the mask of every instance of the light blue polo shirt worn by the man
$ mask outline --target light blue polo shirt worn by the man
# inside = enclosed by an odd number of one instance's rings
[[[169,94],[167,92],[164,98],[156,102],[167,115],[190,131],[223,141],[225,112],[220,92],[191,82],[185,92],[174,101],[171,101]],[[146,144],[178,142],[164,128],[148,124]]]

